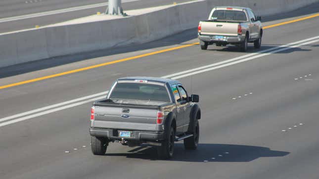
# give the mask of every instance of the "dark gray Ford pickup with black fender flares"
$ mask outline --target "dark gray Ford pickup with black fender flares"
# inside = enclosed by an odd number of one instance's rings
[[[174,142],[196,149],[201,111],[198,95],[188,96],[173,79],[125,77],[115,81],[106,99],[91,107],[91,149],[104,155],[110,142],[157,146],[158,157],[172,158]]]

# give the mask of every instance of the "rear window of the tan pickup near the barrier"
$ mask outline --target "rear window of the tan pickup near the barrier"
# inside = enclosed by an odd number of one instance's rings
[[[216,21],[247,21],[245,12],[237,10],[215,10],[211,19]]]

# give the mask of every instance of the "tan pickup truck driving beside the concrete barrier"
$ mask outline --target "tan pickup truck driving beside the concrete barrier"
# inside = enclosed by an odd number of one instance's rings
[[[202,50],[208,45],[217,46],[234,44],[241,51],[246,51],[248,42],[253,42],[255,48],[260,48],[263,36],[261,17],[247,7],[214,7],[208,20],[200,21],[198,38]]]

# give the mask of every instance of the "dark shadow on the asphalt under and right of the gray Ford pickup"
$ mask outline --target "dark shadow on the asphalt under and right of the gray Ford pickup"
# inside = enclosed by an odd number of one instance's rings
[[[175,143],[175,154],[169,161],[182,162],[250,162],[260,157],[282,157],[289,152],[271,150],[268,147],[236,145],[236,144],[211,144],[200,143],[197,150],[185,150],[182,143]],[[110,153],[107,156],[126,156],[158,160],[155,147],[140,146],[128,153]]]

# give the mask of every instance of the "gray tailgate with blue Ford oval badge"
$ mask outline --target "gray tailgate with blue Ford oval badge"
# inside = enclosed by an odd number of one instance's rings
[[[154,131],[157,109],[155,107],[95,106],[91,127]]]

